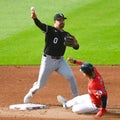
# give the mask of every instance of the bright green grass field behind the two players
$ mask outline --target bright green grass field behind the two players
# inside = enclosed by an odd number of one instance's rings
[[[38,65],[44,48],[44,34],[34,25],[30,7],[38,18],[53,25],[53,16],[68,18],[65,30],[79,41],[73,57],[96,65],[120,65],[120,0],[0,0],[0,65]]]

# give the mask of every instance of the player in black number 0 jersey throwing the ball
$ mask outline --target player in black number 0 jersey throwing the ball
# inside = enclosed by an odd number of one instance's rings
[[[35,25],[45,33],[45,46],[41,59],[38,80],[33,84],[32,88],[25,95],[24,103],[29,103],[33,94],[44,87],[48,77],[53,71],[63,75],[68,80],[73,96],[78,96],[76,79],[70,66],[63,57],[67,46],[65,45],[66,36],[70,35],[70,33],[63,30],[65,19],[67,18],[64,17],[64,15],[61,13],[56,14],[54,16],[54,26],[52,27],[42,23],[37,18],[34,9],[31,12],[31,17],[34,20]],[[70,47],[75,50],[79,48],[79,44],[76,39],[73,42],[73,46]]]

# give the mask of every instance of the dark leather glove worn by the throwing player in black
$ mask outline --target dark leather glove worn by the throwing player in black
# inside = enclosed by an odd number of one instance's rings
[[[77,44],[77,40],[72,35],[67,35],[66,40],[64,42],[65,46],[73,47],[74,49],[78,49],[79,45]]]

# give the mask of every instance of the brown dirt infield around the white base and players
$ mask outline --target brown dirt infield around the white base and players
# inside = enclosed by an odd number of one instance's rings
[[[120,119],[120,66],[96,66],[101,72],[108,91],[108,112],[101,120]],[[87,79],[79,72],[79,67],[72,70],[77,79],[79,93],[87,93]],[[46,104],[41,110],[10,110],[11,104],[23,104],[23,98],[37,80],[39,66],[0,66],[0,120],[94,120],[93,114],[75,114],[65,110],[57,102],[61,94],[67,99],[72,94],[65,78],[53,72],[46,86],[32,98],[32,103]]]

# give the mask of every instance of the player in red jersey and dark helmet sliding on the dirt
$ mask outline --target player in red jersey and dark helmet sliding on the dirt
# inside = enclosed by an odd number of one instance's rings
[[[58,95],[57,100],[63,108],[72,107],[75,113],[96,113],[95,118],[100,118],[106,113],[107,91],[103,79],[92,64],[68,58],[68,61],[81,65],[80,71],[88,78],[88,94],[77,96],[71,100],[66,100]]]

